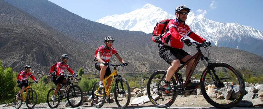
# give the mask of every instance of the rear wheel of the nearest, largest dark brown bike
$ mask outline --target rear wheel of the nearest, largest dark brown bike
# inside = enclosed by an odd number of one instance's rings
[[[152,104],[159,108],[170,107],[177,96],[175,92],[171,92],[170,94],[166,93],[165,88],[162,87],[162,81],[165,80],[165,75],[166,71],[155,71],[147,82],[147,95]],[[171,83],[171,87],[174,89],[176,82],[173,77],[171,78]]]

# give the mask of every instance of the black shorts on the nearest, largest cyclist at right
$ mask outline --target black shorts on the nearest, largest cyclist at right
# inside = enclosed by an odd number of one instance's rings
[[[159,56],[164,59],[168,64],[171,65],[173,60],[179,59],[181,64],[185,62],[181,61],[183,57],[189,55],[183,49],[175,49],[168,46],[160,46],[159,47]]]

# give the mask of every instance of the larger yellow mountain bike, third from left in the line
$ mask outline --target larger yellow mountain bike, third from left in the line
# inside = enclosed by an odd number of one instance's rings
[[[106,88],[106,80],[111,78],[111,83],[109,88],[107,89],[107,92],[105,91],[105,88],[99,87],[99,82],[95,83],[92,88],[92,102],[93,104],[100,108],[105,103],[106,97],[109,97],[111,92],[111,86],[113,85],[113,81],[115,79],[115,87],[114,87],[114,97],[115,102],[117,103],[118,107],[121,109],[124,109],[128,107],[131,99],[131,92],[130,92],[130,86],[125,78],[122,78],[121,75],[117,74],[116,68],[119,66],[125,66],[123,64],[120,65],[114,65],[109,64],[108,66],[114,66],[114,71],[105,79],[103,79],[103,85]],[[108,102],[110,103],[110,99],[108,99]]]

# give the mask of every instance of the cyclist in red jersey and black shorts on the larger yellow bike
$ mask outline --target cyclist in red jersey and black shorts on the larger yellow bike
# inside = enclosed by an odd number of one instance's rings
[[[99,86],[104,88],[103,85],[103,78],[107,78],[111,74],[111,69],[107,65],[110,62],[110,58],[112,55],[115,55],[116,58],[126,66],[126,63],[121,56],[118,54],[115,48],[112,47],[113,45],[113,38],[111,36],[107,36],[104,38],[105,45],[101,45],[95,52],[95,68],[100,71],[100,83]],[[107,79],[107,88],[110,86],[111,78]],[[107,90],[107,89],[106,89]]]

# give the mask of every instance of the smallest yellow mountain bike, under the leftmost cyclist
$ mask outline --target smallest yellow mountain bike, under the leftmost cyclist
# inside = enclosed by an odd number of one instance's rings
[[[14,104],[15,107],[18,109],[22,106],[22,102],[25,101],[26,105],[29,109],[34,108],[35,105],[37,104],[37,92],[34,91],[31,87],[30,84],[31,83],[35,83],[35,82],[25,82],[28,83],[28,87],[26,87],[26,89],[23,91],[22,94],[20,94],[20,99],[18,99],[16,97],[16,95],[19,93],[19,91],[15,94],[15,98],[14,98]],[[24,96],[24,92],[26,92],[25,96]]]

